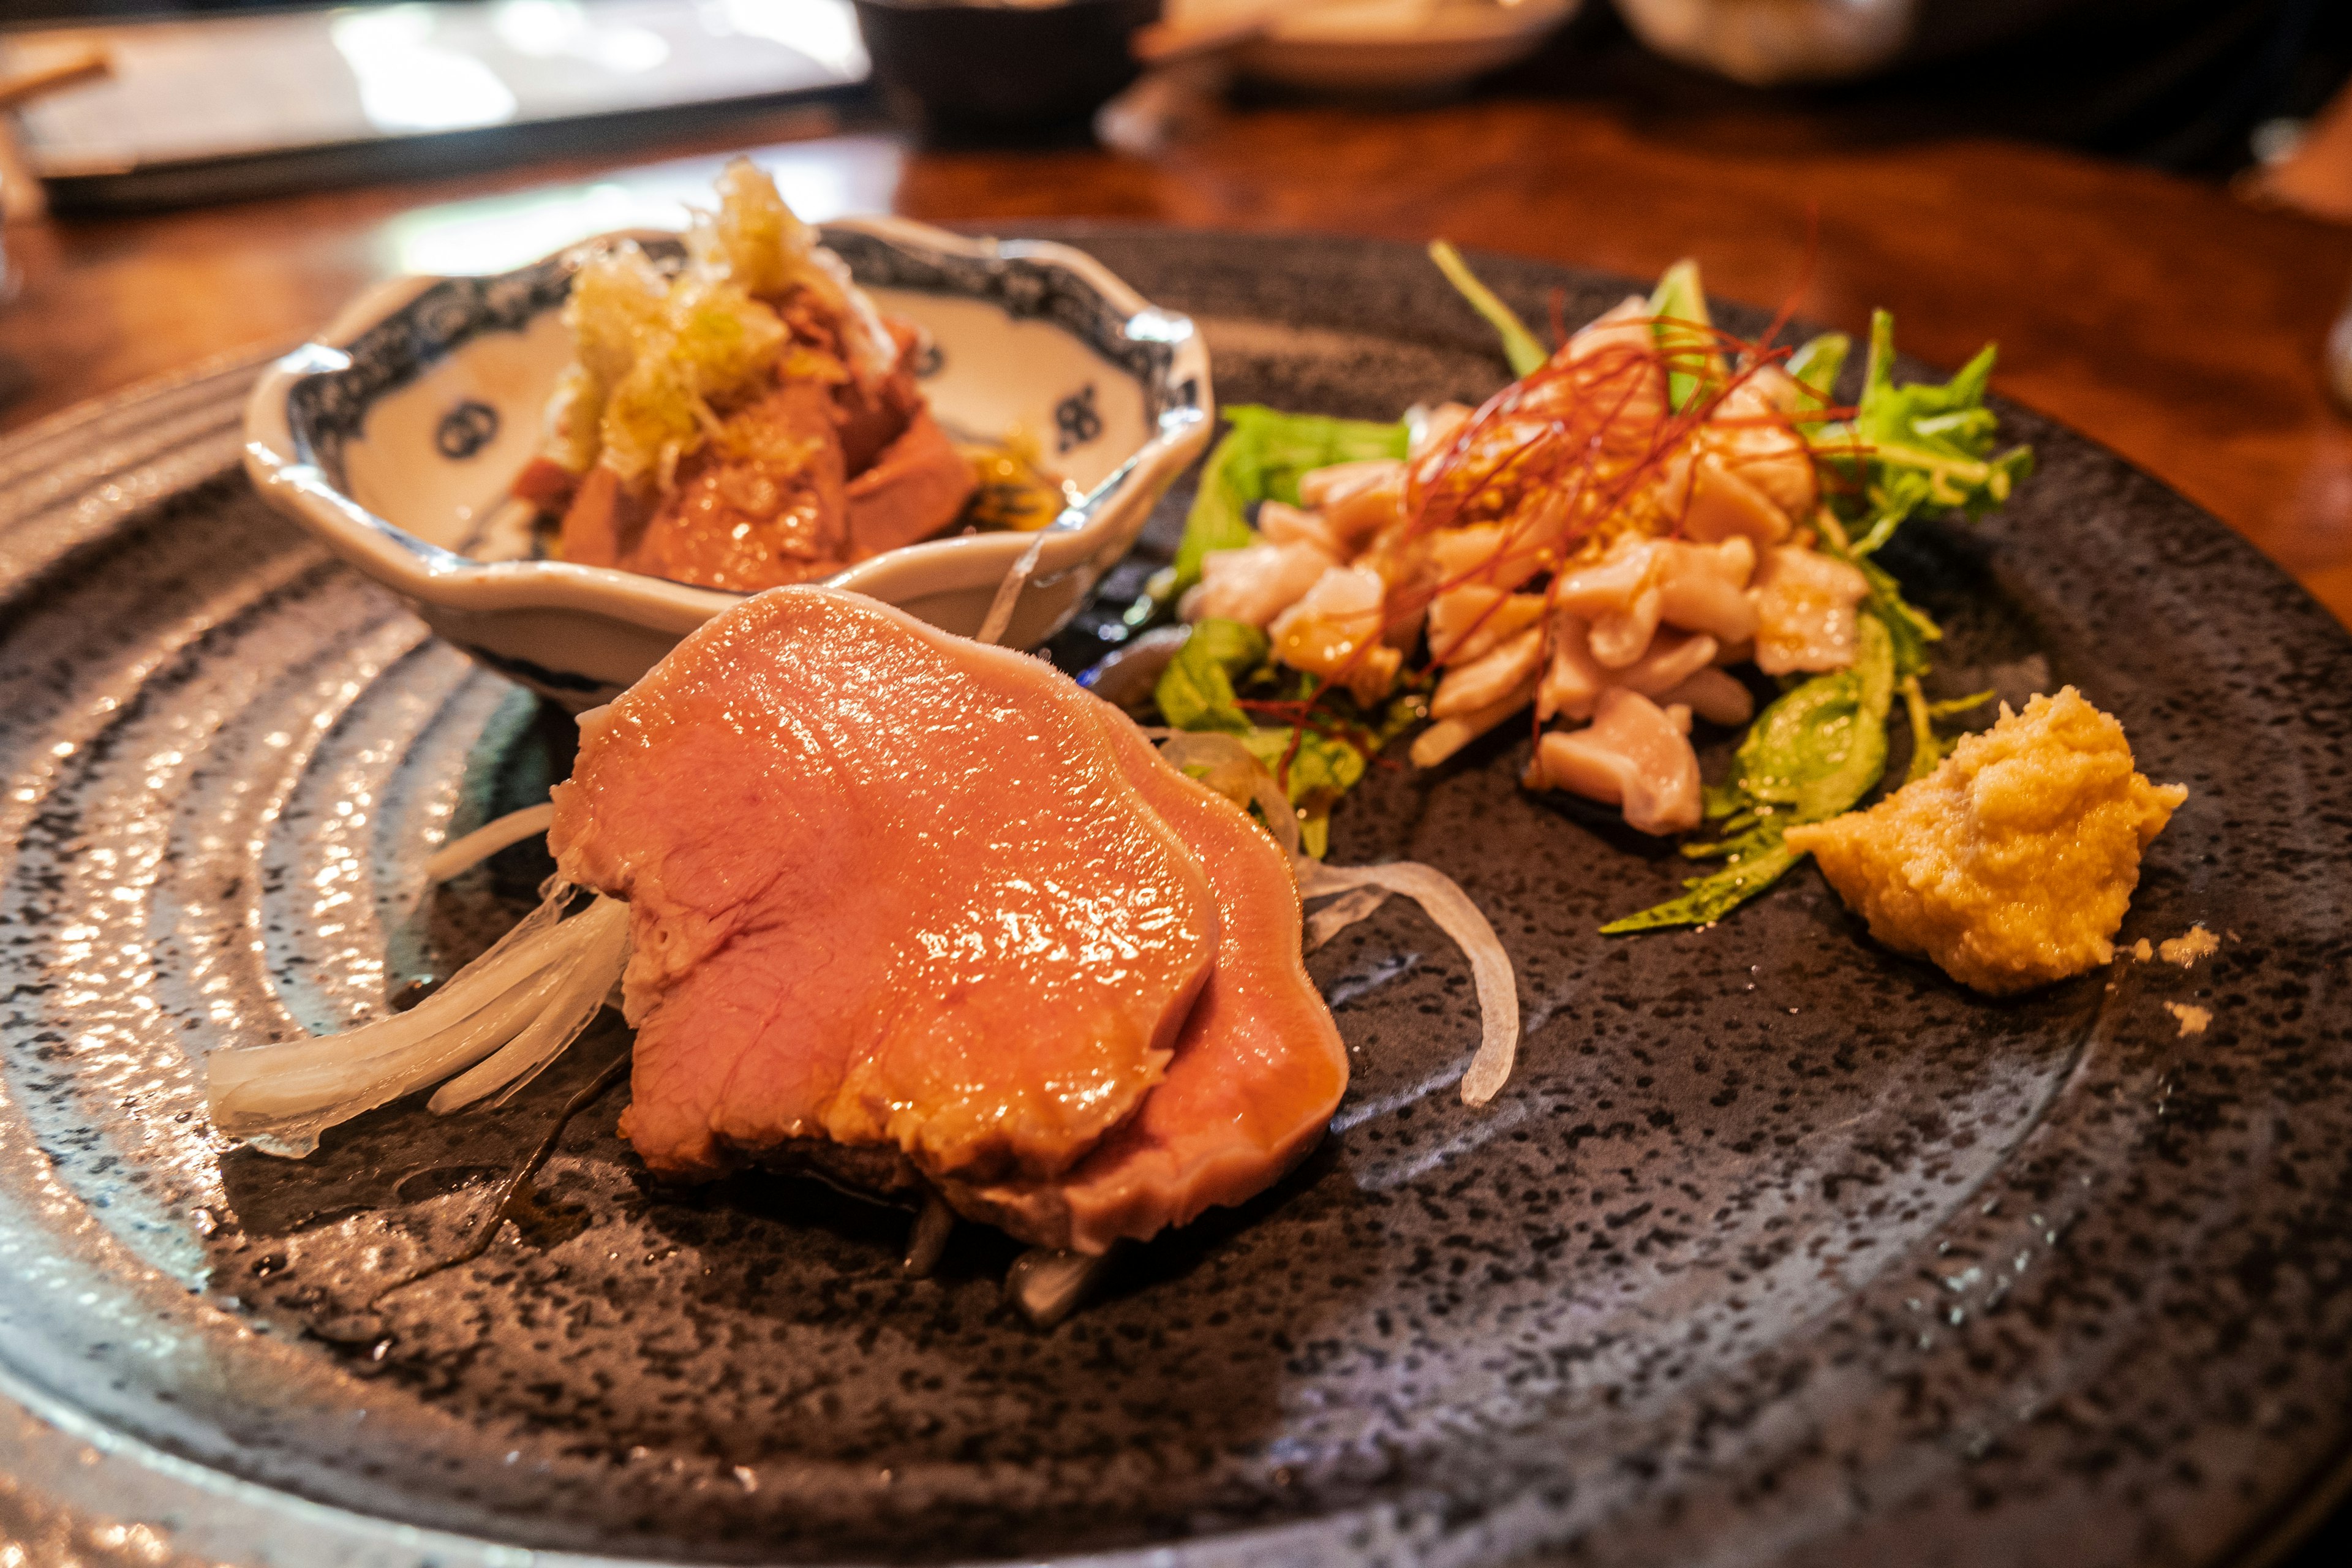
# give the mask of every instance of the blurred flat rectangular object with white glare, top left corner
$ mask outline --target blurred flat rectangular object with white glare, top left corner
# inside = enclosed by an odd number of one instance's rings
[[[24,108],[59,205],[186,202],[414,174],[466,148],[581,150],[586,127],[736,113],[866,80],[849,0],[489,0],[0,35],[9,75],[113,78]]]

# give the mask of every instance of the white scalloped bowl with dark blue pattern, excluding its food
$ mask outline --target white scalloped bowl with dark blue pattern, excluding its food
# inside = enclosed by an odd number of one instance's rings
[[[529,559],[508,484],[541,437],[569,360],[562,303],[588,240],[496,277],[402,277],[273,364],[245,411],[261,494],[346,562],[407,597],[449,642],[567,708],[644,675],[739,595]],[[1209,355],[1192,322],[1150,306],[1065,244],[967,240],[898,219],[826,226],[882,310],[931,334],[924,395],[960,437],[1021,430],[1073,503],[1004,642],[1044,642],[1134,543],[1209,440]],[[830,581],[953,632],[976,632],[1037,536],[971,534],[889,550]]]

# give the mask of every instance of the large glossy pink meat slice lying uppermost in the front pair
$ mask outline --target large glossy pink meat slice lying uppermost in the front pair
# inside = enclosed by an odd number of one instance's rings
[[[562,875],[628,898],[621,1131],[1049,1180],[1162,1081],[1216,959],[1200,856],[1049,665],[776,588],[581,722]]]

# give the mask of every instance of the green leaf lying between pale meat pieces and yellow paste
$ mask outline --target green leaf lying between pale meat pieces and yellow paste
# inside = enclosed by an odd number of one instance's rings
[[[1783,691],[1740,741],[1731,778],[1708,790],[1708,816],[1731,832],[1715,844],[1684,844],[1682,853],[1722,858],[1724,870],[1691,877],[1679,898],[1613,919],[1602,936],[1722,919],[1804,858],[1783,842],[1790,827],[1851,811],[1886,776],[1893,635],[1875,614],[1860,618],[1858,632],[1853,663]]]

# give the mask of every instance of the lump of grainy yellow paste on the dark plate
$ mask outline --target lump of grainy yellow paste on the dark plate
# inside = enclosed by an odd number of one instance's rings
[[[2133,769],[2114,717],[2072,686],[1964,738],[1870,811],[1790,827],[1870,936],[1980,992],[2049,985],[2114,957],[2140,851],[2185,785]]]

